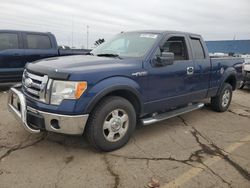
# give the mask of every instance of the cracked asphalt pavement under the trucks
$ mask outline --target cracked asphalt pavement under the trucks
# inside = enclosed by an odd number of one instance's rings
[[[250,187],[250,89],[228,112],[204,108],[138,127],[114,152],[82,137],[26,132],[0,93],[0,187]]]

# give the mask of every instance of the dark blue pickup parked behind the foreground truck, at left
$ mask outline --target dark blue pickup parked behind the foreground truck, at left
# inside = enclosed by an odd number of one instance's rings
[[[59,49],[51,33],[0,30],[0,86],[21,81],[27,62],[87,52]]]

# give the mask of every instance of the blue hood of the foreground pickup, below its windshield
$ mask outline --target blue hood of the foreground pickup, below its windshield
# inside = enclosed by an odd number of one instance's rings
[[[136,58],[111,58],[91,55],[74,55],[47,58],[26,65],[30,72],[48,75],[51,78],[67,79],[72,74],[110,72],[142,68],[142,60]],[[112,72],[113,72],[112,71]]]

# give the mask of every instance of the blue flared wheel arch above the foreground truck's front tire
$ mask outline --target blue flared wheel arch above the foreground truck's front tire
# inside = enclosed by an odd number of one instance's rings
[[[141,110],[143,110],[140,86],[127,77],[110,77],[98,82],[88,91],[88,94],[93,97],[86,106],[85,113],[90,113],[104,96],[117,90],[126,90],[134,94],[140,103]]]

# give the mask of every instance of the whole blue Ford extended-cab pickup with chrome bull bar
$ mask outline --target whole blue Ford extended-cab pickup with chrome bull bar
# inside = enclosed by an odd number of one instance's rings
[[[85,135],[102,151],[124,146],[135,126],[203,107],[228,109],[241,58],[210,58],[200,35],[120,33],[85,56],[29,63],[8,106],[31,133]]]

